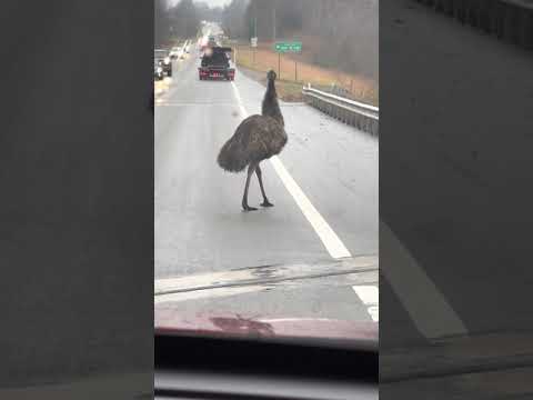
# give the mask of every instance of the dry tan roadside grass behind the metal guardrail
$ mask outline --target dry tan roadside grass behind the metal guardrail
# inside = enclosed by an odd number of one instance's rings
[[[281,56],[281,73],[279,73],[278,53],[271,43],[260,44],[254,51],[248,44],[232,44],[237,64],[249,70],[252,78],[265,84],[265,72],[273,69],[278,73],[278,94],[284,101],[302,101],[302,87],[308,82],[326,90],[331,87],[344,89],[353,100],[378,106],[378,83],[354,74],[334,69],[319,67],[302,57]],[[261,74],[250,71],[262,72]]]

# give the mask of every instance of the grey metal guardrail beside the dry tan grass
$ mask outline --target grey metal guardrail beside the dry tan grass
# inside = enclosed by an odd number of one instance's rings
[[[344,123],[379,136],[380,109],[378,107],[314,89],[310,83],[303,87],[302,93],[308,104]]]

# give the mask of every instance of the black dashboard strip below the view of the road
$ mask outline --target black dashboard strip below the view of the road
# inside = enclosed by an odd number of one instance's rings
[[[376,348],[155,336],[155,399],[379,399]]]

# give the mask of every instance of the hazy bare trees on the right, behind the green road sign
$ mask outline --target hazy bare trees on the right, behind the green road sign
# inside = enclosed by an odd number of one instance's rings
[[[222,24],[233,38],[302,39],[313,62],[378,80],[378,0],[232,0]],[[306,43],[308,41],[308,43]]]

